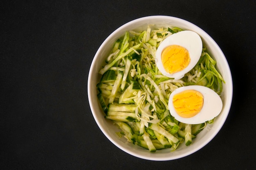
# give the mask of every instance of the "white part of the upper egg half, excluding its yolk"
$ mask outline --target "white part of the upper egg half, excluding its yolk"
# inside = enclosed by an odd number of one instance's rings
[[[190,56],[189,65],[185,69],[181,70],[180,72],[176,72],[173,74],[170,74],[165,71],[164,66],[162,64],[162,60],[161,60],[162,51],[170,45],[180,45],[186,48],[189,51],[189,56]],[[174,78],[175,80],[178,80],[184,77],[184,74],[186,74],[191,69],[193,69],[193,67],[195,67],[201,54],[202,54],[202,40],[200,36],[193,31],[180,31],[175,34],[172,34],[171,36],[168,36],[166,39],[164,39],[161,42],[161,44],[159,45],[156,51],[155,62],[159,71],[163,75],[170,78]]]

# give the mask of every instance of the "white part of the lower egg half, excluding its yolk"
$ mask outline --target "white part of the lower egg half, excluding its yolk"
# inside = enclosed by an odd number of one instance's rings
[[[200,92],[203,95],[204,98],[204,103],[202,106],[202,109],[198,114],[191,118],[183,118],[177,112],[175,111],[173,107],[173,96],[177,93],[183,92],[184,90],[196,90]],[[187,124],[199,124],[199,123],[204,123],[206,121],[212,120],[218,114],[220,114],[222,110],[222,100],[220,96],[214,92],[212,89],[200,85],[190,85],[190,86],[184,86],[184,87],[179,87],[175,89],[170,97],[169,97],[169,102],[168,102],[168,108],[170,110],[171,115],[177,120],[182,123],[187,123]]]

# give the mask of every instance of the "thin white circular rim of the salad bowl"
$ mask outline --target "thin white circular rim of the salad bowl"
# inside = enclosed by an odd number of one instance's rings
[[[120,145],[119,143],[117,143],[115,140],[113,140],[111,138],[111,136],[108,135],[108,133],[106,132],[106,130],[101,126],[101,123],[99,121],[99,119],[97,118],[97,115],[96,115],[96,111],[94,109],[94,104],[95,103],[92,103],[92,92],[91,92],[91,88],[92,88],[92,84],[90,83],[90,79],[93,78],[92,76],[92,73],[93,73],[93,66],[96,64],[97,62],[97,56],[99,56],[99,53],[101,51],[101,49],[103,48],[103,46],[106,44],[106,42],[108,42],[116,33],[118,33],[119,31],[123,30],[124,28],[126,28],[128,25],[131,25],[133,24],[134,22],[139,22],[139,21],[142,21],[142,20],[151,20],[151,19],[166,19],[166,20],[175,20],[175,21],[180,21],[182,23],[186,23],[188,25],[191,25],[193,28],[197,29],[200,31],[200,36],[202,36],[203,34],[203,37],[207,37],[208,40],[210,40],[213,44],[214,44],[214,48],[218,49],[218,51],[220,52],[220,54],[223,56],[223,60],[225,63],[223,63],[226,67],[227,67],[227,71],[228,71],[228,82],[230,82],[229,84],[229,102],[228,103],[225,103],[225,105],[227,105],[226,109],[225,109],[225,115],[224,117],[219,120],[220,123],[219,123],[219,126],[216,128],[216,130],[214,131],[214,133],[211,135],[210,138],[207,138],[207,140],[204,140],[202,141],[202,143],[200,144],[199,147],[197,147],[196,149],[193,149],[193,150],[189,150],[188,152],[184,153],[184,154],[179,154],[178,156],[176,157],[173,157],[173,158],[169,158],[169,157],[166,157],[166,158],[155,158],[155,157],[151,157],[152,154],[148,155],[148,156],[143,156],[143,155],[140,155],[140,154],[137,154],[137,153],[134,153],[130,150],[128,150],[127,148],[124,148],[122,145]],[[128,31],[128,30],[127,30]],[[91,66],[90,66],[90,70],[89,70],[89,75],[88,75],[88,101],[89,101],[89,105],[90,105],[90,109],[92,111],[92,115],[94,117],[94,120],[96,121],[97,125],[99,126],[100,130],[103,132],[103,134],[108,138],[108,140],[110,140],[114,145],[116,145],[119,149],[123,150],[124,152],[132,155],[132,156],[135,156],[135,157],[138,157],[138,158],[141,158],[141,159],[146,159],[146,160],[151,160],[151,161],[169,161],[169,160],[175,160],[175,159],[180,159],[182,157],[186,157],[186,156],[189,156],[195,152],[197,152],[198,150],[200,150],[201,148],[203,148],[205,145],[207,145],[215,136],[216,134],[218,134],[218,132],[220,131],[220,129],[222,128],[222,126],[224,125],[226,119],[227,119],[227,116],[229,114],[229,111],[230,111],[230,108],[231,108],[231,103],[232,103],[232,98],[233,98],[233,81],[232,81],[232,76],[231,76],[231,71],[230,71],[230,68],[229,68],[229,65],[227,63],[227,59],[225,57],[225,55],[223,54],[222,50],[220,49],[220,47],[218,46],[218,44],[216,43],[215,40],[213,40],[213,38],[211,38],[211,36],[209,36],[209,34],[207,34],[203,29],[201,29],[200,27],[198,27],[197,25],[193,24],[192,22],[189,22],[187,20],[184,20],[182,18],[177,18],[177,17],[174,17],[174,16],[162,16],[162,15],[155,15],[155,16],[145,16],[145,17],[141,17],[141,18],[137,18],[135,20],[130,20],[129,22],[125,23],[124,25],[121,25],[120,27],[118,27],[117,29],[115,29],[115,31],[113,31],[104,41],[103,43],[100,45],[99,49],[97,50],[96,54],[94,55],[94,58],[92,60],[92,63],[91,63]],[[223,112],[223,111],[222,111]],[[155,154],[155,153],[153,153]]]

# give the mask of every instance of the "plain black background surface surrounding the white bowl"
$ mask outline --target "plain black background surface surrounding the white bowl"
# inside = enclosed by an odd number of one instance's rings
[[[254,0],[8,0],[0,13],[0,169],[256,168]],[[101,43],[126,22],[150,15],[204,29],[233,76],[233,103],[220,132],[173,161],[139,159],[117,148],[88,103],[89,68]]]

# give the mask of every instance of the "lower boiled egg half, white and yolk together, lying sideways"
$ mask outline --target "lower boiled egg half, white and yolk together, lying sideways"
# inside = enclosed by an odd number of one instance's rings
[[[212,89],[190,85],[175,89],[168,102],[171,115],[182,123],[199,124],[212,120],[222,110],[222,100]]]

